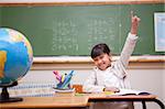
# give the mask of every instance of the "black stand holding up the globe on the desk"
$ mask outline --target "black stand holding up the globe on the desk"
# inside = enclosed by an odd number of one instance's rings
[[[22,101],[22,98],[13,98],[10,97],[9,92],[8,92],[8,87],[13,87],[16,86],[18,81],[13,81],[10,85],[0,85],[0,87],[2,87],[2,91],[0,95],[0,102],[15,102],[15,101]]]

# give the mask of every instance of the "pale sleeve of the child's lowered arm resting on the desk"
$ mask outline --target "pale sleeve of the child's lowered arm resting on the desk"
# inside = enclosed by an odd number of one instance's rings
[[[82,90],[85,92],[101,92],[103,90],[103,86],[97,85],[97,76],[95,70],[91,72],[90,76],[87,78],[87,80],[82,85]]]

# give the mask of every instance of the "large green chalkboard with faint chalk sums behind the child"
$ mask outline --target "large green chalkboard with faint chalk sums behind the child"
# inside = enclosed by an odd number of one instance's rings
[[[1,7],[0,24],[22,32],[34,56],[86,56],[102,42],[119,55],[130,31],[131,10],[141,18],[133,55],[164,54],[154,47],[154,12],[165,11],[164,4]]]

